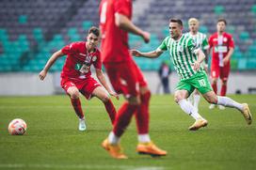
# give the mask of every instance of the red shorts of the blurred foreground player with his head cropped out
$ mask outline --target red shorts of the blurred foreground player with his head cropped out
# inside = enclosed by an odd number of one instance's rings
[[[148,85],[134,60],[125,63],[105,63],[104,67],[116,92],[127,98],[137,96],[139,87]]]

